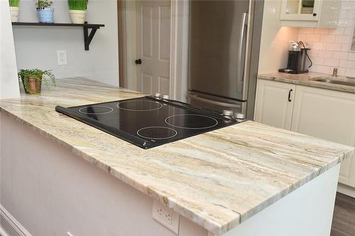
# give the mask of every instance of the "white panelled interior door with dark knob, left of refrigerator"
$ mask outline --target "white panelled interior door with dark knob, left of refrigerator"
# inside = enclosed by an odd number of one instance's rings
[[[145,94],[169,94],[170,22],[170,1],[136,1],[137,85]]]

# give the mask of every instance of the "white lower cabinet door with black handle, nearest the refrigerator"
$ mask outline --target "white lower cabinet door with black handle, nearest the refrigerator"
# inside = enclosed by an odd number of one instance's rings
[[[254,119],[290,130],[295,88],[295,84],[259,79]]]

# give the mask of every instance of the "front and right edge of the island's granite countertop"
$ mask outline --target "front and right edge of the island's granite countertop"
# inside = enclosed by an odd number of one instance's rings
[[[104,170],[104,172],[107,172],[111,176],[114,176],[116,179],[123,181],[124,183],[128,184],[129,186],[133,187],[134,189],[137,189],[138,191],[146,194],[148,197],[151,197],[151,198],[155,199],[156,201],[159,201],[163,205],[168,206],[169,208],[172,208],[180,215],[185,216],[186,218],[188,218],[189,220],[192,220],[192,222],[196,223],[197,225],[200,225],[200,226],[204,227],[204,229],[209,230],[210,232],[213,232],[214,234],[217,234],[217,235],[222,235],[225,232],[228,232],[232,228],[243,223],[245,220],[251,218],[253,215],[256,215],[256,213],[267,208],[268,206],[271,206],[271,204],[280,200],[284,196],[287,196],[289,193],[292,193],[293,191],[295,191],[295,189],[298,189],[298,188],[300,188],[300,186],[307,184],[307,182],[311,181],[312,179],[315,179],[320,174],[326,172],[328,169],[331,169],[335,165],[341,163],[344,159],[350,157],[354,153],[354,150],[355,150],[355,148],[354,148],[353,150],[351,150],[349,152],[343,153],[341,156],[339,156],[333,162],[327,164],[327,166],[321,167],[320,169],[317,169],[315,172],[312,172],[311,174],[304,176],[302,179],[300,179],[300,181],[295,182],[291,187],[283,189],[279,193],[268,198],[266,201],[263,201],[263,203],[258,204],[258,206],[255,206],[254,208],[252,208],[249,213],[246,213],[244,215],[241,215],[239,213],[239,218],[231,220],[229,223],[226,223],[224,225],[219,225],[218,223],[214,222],[213,220],[208,220],[206,218],[203,218],[202,215],[198,215],[197,213],[192,213],[189,209],[184,208],[184,207],[180,206],[179,204],[175,203],[175,201],[173,199],[164,196],[163,193],[160,193],[159,191],[152,189],[150,186],[144,186],[144,185],[138,183],[138,181],[131,179],[129,176],[126,176],[125,174],[117,172],[115,169],[111,168],[109,165],[104,164],[103,162],[95,159],[94,157],[90,156],[89,154],[85,154],[84,152],[78,150],[77,148],[73,147],[69,143],[61,140],[58,137],[55,137],[54,135],[46,132],[45,130],[42,130],[41,128],[38,128],[37,126],[33,125],[32,123],[29,123],[28,121],[23,120],[23,118],[16,116],[15,114],[11,113],[10,111],[6,111],[6,109],[0,107],[0,112],[4,113],[4,115],[9,116],[10,118],[13,118],[14,120],[18,121],[21,124],[28,126],[29,128],[31,128],[35,132],[38,132],[40,135],[44,136],[45,138],[48,138],[48,140],[58,143],[61,147],[65,147],[67,150],[72,152],[72,154],[75,154],[78,157],[81,157],[82,159],[86,160],[87,162],[94,164],[96,167],[99,167],[99,169]],[[189,213],[194,215],[194,217],[191,217],[189,215]]]

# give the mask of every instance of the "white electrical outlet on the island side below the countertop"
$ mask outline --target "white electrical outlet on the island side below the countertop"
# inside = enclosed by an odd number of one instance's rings
[[[157,201],[153,201],[153,219],[164,225],[169,230],[179,234],[179,214],[163,206]]]

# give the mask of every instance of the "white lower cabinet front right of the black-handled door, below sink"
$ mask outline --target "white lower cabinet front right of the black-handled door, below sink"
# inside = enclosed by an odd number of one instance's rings
[[[355,94],[297,86],[291,130],[355,146]],[[355,157],[342,163],[339,182],[355,186]]]

